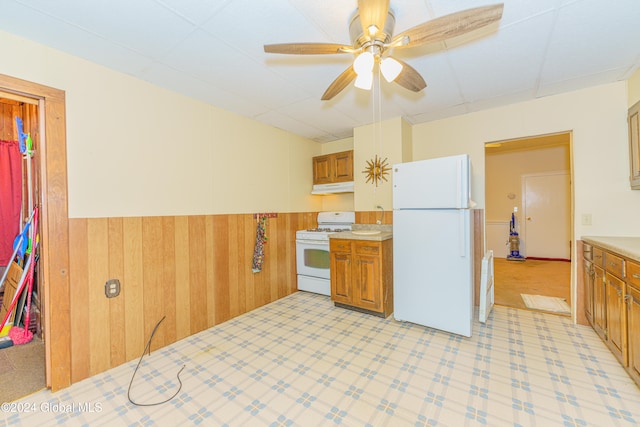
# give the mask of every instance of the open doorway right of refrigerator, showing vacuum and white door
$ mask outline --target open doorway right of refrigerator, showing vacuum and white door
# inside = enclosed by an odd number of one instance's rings
[[[533,295],[571,306],[571,165],[570,132],[485,145],[496,304],[527,309]]]

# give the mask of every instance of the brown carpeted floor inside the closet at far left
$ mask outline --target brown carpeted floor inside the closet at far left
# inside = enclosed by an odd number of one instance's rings
[[[0,350],[0,403],[28,396],[45,387],[44,342],[34,337],[28,344]]]

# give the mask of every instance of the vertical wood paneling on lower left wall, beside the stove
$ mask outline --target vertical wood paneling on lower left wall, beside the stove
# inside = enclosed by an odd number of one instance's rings
[[[70,219],[71,382],[138,358],[296,290],[295,232],[316,213],[269,218],[251,271],[251,214]],[[106,298],[118,279],[121,293]]]

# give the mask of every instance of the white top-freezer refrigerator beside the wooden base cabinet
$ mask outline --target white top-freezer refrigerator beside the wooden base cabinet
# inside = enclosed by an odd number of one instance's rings
[[[470,337],[469,156],[401,163],[392,170],[394,318]]]

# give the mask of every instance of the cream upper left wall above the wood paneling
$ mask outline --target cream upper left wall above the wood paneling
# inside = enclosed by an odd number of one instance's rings
[[[315,211],[311,140],[0,32],[0,73],[66,93],[70,217]]]

